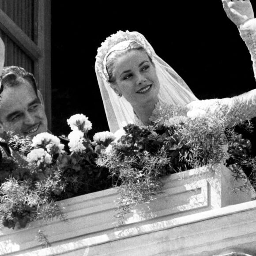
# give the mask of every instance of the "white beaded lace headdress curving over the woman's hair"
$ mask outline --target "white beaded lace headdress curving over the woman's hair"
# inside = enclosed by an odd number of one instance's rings
[[[98,54],[96,56],[95,67],[103,79],[106,81],[109,80],[109,75],[106,69],[107,56],[109,56],[109,54],[113,51],[127,49],[130,42],[137,42],[146,50],[149,56],[152,56],[152,52],[154,50],[151,45],[148,44],[147,40],[143,37],[142,34],[136,31],[129,32],[126,30],[124,32],[119,30],[116,34],[112,34],[106,38],[97,50]]]

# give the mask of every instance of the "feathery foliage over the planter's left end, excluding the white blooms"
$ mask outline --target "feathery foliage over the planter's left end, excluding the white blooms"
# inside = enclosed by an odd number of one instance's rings
[[[21,151],[24,150],[24,138],[15,136],[10,140],[12,145],[19,145]],[[31,145],[30,140],[29,147]],[[39,162],[39,165],[31,164],[29,158],[21,154],[19,158],[10,156],[2,159],[0,220],[4,226],[15,228],[19,223],[20,227],[25,227],[27,222],[38,218],[62,215],[53,201],[54,194],[64,189],[61,170],[56,162],[47,164],[45,158]]]

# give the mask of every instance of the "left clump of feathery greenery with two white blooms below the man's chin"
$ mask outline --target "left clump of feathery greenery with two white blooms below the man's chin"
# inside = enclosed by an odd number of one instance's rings
[[[1,162],[5,170],[0,178],[1,222],[14,228],[18,223],[24,227],[38,218],[45,221],[54,216],[63,218],[53,200],[64,189],[59,168],[64,145],[60,139],[41,133],[32,141],[12,135],[8,135],[7,141],[16,154],[2,158]]]

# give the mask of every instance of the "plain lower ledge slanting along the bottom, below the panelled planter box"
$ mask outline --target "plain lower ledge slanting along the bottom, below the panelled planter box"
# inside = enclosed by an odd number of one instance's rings
[[[256,201],[251,201],[85,238],[24,253],[23,256],[53,256],[62,253],[69,256],[139,256],[154,253],[166,255],[167,252],[175,256],[212,256],[213,253],[234,250],[255,253],[255,216]],[[196,227],[196,230],[192,227]],[[147,248],[153,245],[157,245],[157,251],[156,248],[152,251]]]

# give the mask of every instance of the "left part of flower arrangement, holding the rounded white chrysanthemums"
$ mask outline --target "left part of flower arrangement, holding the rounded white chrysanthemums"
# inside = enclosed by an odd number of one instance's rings
[[[1,158],[0,221],[14,228],[53,217],[64,220],[56,201],[109,188],[108,169],[95,161],[115,137],[110,132],[88,137],[91,122],[81,114],[68,120],[72,132],[62,139],[43,132],[22,138],[9,133],[4,145],[10,154]]]

